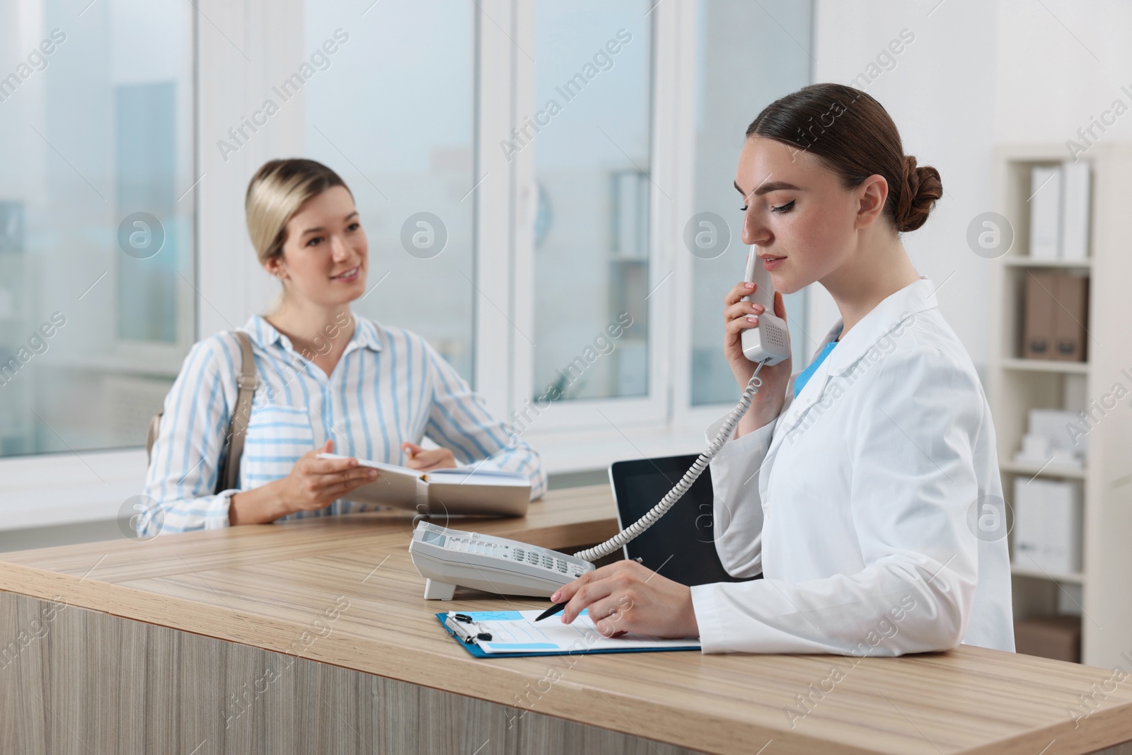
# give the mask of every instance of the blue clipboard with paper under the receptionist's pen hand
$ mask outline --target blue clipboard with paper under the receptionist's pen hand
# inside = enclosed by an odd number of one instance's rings
[[[443,611],[437,620],[448,635],[475,658],[529,658],[532,655],[583,655],[593,653],[644,653],[700,650],[700,640],[666,640],[627,634],[604,637],[594,628],[586,611],[573,624],[557,617],[538,624],[542,611]],[[457,620],[456,615],[470,620]],[[490,636],[490,640],[483,638]]]

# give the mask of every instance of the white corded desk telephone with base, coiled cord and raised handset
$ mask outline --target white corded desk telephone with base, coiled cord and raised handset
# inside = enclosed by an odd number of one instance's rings
[[[593,569],[593,561],[629,542],[655,524],[668,509],[684,497],[692,483],[707,469],[707,463],[719,453],[735,431],[735,426],[763,384],[758,372],[765,364],[777,364],[790,355],[790,341],[786,323],[774,315],[774,289],[771,275],[761,264],[752,247],[747,255],[745,281],[756,284],[755,292],[744,300],[754,300],[766,308],[758,316],[758,325],[746,328],[740,336],[743,354],[756,363],[754,375],[743,392],[738,405],[731,410],[707,451],[700,454],[680,481],[668,491],[659,504],[636,522],[593,548],[573,556],[528,546],[516,540],[490,538],[475,532],[448,530],[427,521],[418,523],[409,543],[409,555],[422,577],[426,577],[426,599],[451,599],[457,585],[486,590],[505,595],[549,597],[561,585]]]

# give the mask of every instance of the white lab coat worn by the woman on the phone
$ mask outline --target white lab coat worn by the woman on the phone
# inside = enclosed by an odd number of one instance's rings
[[[969,524],[1002,497],[990,410],[932,282],[882,301],[787,396],[711,462],[719,557],[764,578],[692,587],[704,652],[1013,651],[1006,540]]]

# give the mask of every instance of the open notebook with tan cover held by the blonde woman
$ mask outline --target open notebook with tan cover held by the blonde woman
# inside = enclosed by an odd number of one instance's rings
[[[319,458],[349,458],[319,454]],[[421,472],[408,466],[359,458],[361,466],[378,471],[374,482],[359,486],[346,498],[362,504],[406,508],[420,514],[495,514],[524,516],[531,503],[531,481],[525,474],[461,466]]]

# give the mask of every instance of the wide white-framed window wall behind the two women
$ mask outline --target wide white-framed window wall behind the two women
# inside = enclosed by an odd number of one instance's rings
[[[784,0],[3,3],[0,456],[62,455],[0,460],[0,478],[63,470],[72,521],[140,489],[147,421],[192,342],[277,292],[243,192],[292,155],[354,194],[371,286],[357,311],[428,338],[548,469],[698,447],[739,394],[720,299],[743,267],[740,135],[808,81],[809,15]],[[700,212],[730,225],[718,258],[683,243]],[[796,355],[801,304],[787,302]],[[109,448],[125,449],[86,453]],[[42,484],[20,484],[6,512],[60,521]]]

